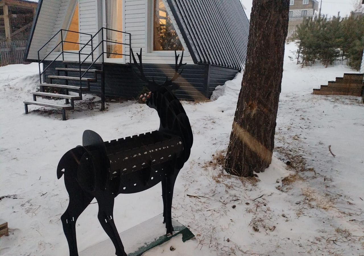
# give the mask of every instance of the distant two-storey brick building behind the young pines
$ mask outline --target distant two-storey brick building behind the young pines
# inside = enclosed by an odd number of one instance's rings
[[[319,3],[316,0],[290,0],[289,25],[301,24],[305,17],[318,14]]]

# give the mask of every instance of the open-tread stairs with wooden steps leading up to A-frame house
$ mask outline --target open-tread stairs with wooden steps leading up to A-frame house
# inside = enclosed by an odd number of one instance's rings
[[[82,92],[90,91],[90,82],[96,82],[97,81],[97,73],[103,72],[102,70],[96,70],[96,69],[81,69],[81,72],[92,73],[94,74],[94,78],[81,78],[82,80],[82,87],[80,86],[72,86],[68,85],[68,80],[78,80],[80,81],[80,77],[76,76],[68,76],[68,72],[79,72],[79,68],[59,68],[56,67],[55,70],[57,71],[57,75],[48,75],[48,79],[50,83],[41,83],[40,84],[40,92],[32,92],[33,95],[33,101],[24,101],[24,107],[25,107],[25,114],[28,114],[28,105],[37,105],[37,106],[43,106],[43,107],[50,107],[54,109],[62,109],[62,120],[66,120],[66,110],[73,110],[75,108],[74,102],[82,100]],[[60,72],[63,72],[64,74],[61,75]],[[78,73],[79,74],[79,73]],[[53,84],[53,79],[64,80],[64,84]],[[86,86],[84,84],[86,83]],[[51,92],[44,92],[44,89],[46,87],[53,87],[61,89],[61,93],[51,93]],[[63,89],[63,90],[62,90]],[[69,94],[70,91],[78,92],[78,95],[72,96]],[[52,97],[52,98],[59,98],[64,99],[65,104],[58,104],[53,102],[41,102],[37,101],[37,97]],[[71,102],[70,102],[71,101]]]

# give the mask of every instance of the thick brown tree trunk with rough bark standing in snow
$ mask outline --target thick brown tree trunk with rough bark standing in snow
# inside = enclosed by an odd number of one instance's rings
[[[253,0],[242,88],[225,169],[243,177],[264,172],[272,161],[289,0]]]

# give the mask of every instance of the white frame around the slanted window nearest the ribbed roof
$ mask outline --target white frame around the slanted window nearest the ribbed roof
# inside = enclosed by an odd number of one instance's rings
[[[171,10],[169,8],[169,5],[167,5],[165,0],[162,0],[168,13],[171,13]],[[147,45],[147,51],[146,56],[174,56],[174,51],[154,51],[153,50],[153,29],[154,29],[154,0],[147,0],[146,4],[146,23],[147,23],[147,29],[146,29],[146,45]],[[172,24],[174,28],[176,29],[178,35],[181,35],[181,31],[179,31],[179,28],[177,26],[177,22],[175,21],[174,17],[170,15],[170,19],[172,21]],[[184,52],[183,56],[189,57],[189,51],[187,50],[187,45],[185,43],[185,40],[181,36],[179,36],[179,40],[181,40],[182,46]],[[177,51],[177,54],[182,54],[182,51]]]

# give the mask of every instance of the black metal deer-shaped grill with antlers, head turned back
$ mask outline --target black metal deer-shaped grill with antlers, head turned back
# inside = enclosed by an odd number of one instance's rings
[[[83,133],[82,146],[71,149],[61,158],[58,179],[64,175],[64,183],[70,196],[66,212],[62,215],[70,256],[78,256],[76,221],[90,202],[96,198],[99,205],[98,219],[104,231],[115,245],[116,255],[126,256],[122,241],[114,223],[114,198],[118,194],[137,193],[162,182],[163,223],[167,235],[172,234],[171,208],[174,183],[190,155],[193,135],[189,119],[172,90],[178,88],[174,81],[179,77],[183,53],[175,54],[173,78],[157,84],[146,78],[143,72],[142,51],[137,54],[139,64],[132,53],[141,79],[147,82],[151,96],[147,105],[157,110],[160,127],[151,133],[139,134],[104,142],[91,130]]]

